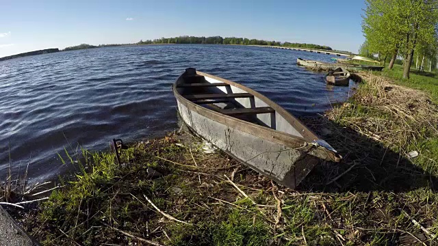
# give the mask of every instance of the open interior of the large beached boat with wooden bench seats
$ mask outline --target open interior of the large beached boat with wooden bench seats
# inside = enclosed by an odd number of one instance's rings
[[[188,70],[176,83],[176,90],[184,98],[207,109],[266,126],[297,137],[302,135],[268,102],[240,87]]]

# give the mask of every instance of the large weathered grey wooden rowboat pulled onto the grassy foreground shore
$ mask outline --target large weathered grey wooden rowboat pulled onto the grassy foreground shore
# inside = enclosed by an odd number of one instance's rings
[[[285,109],[239,83],[188,68],[173,93],[194,133],[292,189],[321,159],[342,158]]]

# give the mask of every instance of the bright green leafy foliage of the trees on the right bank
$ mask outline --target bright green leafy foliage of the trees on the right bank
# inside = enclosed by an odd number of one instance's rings
[[[416,52],[437,50],[438,0],[366,0],[362,30],[370,53],[404,57],[404,77]]]

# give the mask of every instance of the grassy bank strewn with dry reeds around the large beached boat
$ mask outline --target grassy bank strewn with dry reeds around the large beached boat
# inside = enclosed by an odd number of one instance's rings
[[[76,178],[16,217],[44,245],[433,245],[437,106],[361,76],[352,100],[302,119],[344,160],[321,163],[295,191],[175,133],[133,144],[120,165],[83,152]]]

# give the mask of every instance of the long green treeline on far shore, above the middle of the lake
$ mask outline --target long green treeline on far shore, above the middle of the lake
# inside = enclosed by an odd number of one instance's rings
[[[309,49],[324,49],[332,50],[329,46],[318,44],[300,44],[290,42],[278,42],[257,40],[248,38],[222,38],[221,36],[213,37],[194,37],[194,36],[179,36],[175,38],[159,38],[155,40],[140,40],[137,44],[240,44],[240,45],[268,45],[268,46],[287,46],[287,47],[300,47]]]

